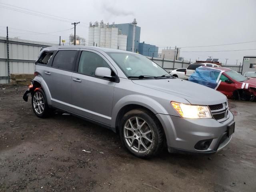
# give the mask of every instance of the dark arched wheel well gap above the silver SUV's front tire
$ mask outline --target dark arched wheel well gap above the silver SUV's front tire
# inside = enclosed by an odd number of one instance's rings
[[[128,111],[133,110],[133,109],[144,109],[144,110],[147,110],[148,112],[150,112],[152,114],[152,116],[156,117],[156,115],[151,110],[149,110],[148,108],[146,108],[144,106],[137,105],[137,104],[126,105],[123,108],[121,108],[120,111],[117,114],[116,124],[115,124],[116,125],[116,133],[119,132],[119,124],[120,124],[120,121],[121,121],[122,117],[124,116],[124,114],[126,114]],[[157,117],[156,117],[156,120],[158,120]],[[166,143],[166,135],[165,135],[165,132],[164,132],[164,128],[163,128],[160,120],[158,120],[158,123],[159,123],[159,125],[161,125],[161,129],[162,129],[162,131],[164,133],[164,140],[165,140],[165,143]]]

